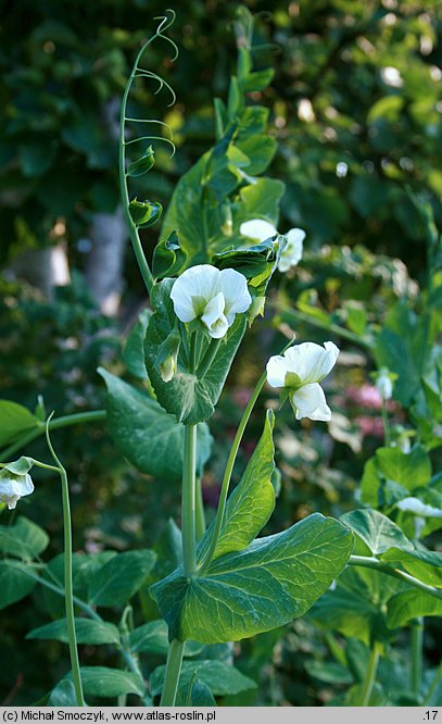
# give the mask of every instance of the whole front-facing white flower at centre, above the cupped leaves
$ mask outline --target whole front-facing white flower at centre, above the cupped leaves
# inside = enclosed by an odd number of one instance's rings
[[[210,264],[186,270],[175,282],[171,299],[181,322],[200,320],[214,339],[220,339],[235,315],[252,303],[245,277],[233,269],[222,272]]]

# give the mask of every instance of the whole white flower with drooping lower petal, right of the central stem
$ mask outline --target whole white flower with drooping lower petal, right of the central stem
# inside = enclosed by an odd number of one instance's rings
[[[320,347],[302,342],[290,347],[283,355],[270,357],[267,362],[267,382],[271,387],[285,388],[296,420],[331,420],[331,411],[319,383],[329,374],[338,359],[339,349],[328,341]]]

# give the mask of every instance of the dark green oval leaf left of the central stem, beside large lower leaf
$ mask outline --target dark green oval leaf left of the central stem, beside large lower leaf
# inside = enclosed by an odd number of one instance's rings
[[[88,602],[92,606],[124,606],[144,583],[155,558],[152,550],[114,556],[90,579]]]

